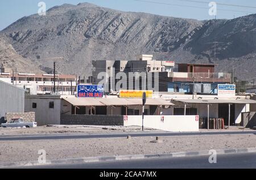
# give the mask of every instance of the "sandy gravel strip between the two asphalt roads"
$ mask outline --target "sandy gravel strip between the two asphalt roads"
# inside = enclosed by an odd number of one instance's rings
[[[127,154],[165,154],[193,150],[255,148],[256,135],[201,135],[163,137],[163,143],[150,143],[155,137],[111,139],[71,139],[1,141],[0,163],[37,161],[44,149],[47,160]]]

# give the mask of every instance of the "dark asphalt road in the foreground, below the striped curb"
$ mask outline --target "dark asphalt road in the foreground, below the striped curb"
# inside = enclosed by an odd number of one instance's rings
[[[58,169],[237,169],[256,168],[256,153],[217,155],[217,163],[210,164],[209,156],[152,158],[143,160],[105,161],[84,164],[46,165],[33,168]]]

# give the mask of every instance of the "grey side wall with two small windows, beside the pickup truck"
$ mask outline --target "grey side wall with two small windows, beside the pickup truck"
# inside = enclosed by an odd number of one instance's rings
[[[49,108],[49,102],[54,102],[54,108]],[[36,108],[32,108],[32,103],[36,103]],[[25,111],[35,112],[38,125],[60,124],[60,97],[28,95],[25,98]]]

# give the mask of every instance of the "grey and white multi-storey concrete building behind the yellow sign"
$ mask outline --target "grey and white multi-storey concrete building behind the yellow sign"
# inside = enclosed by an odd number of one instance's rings
[[[146,76],[151,76],[153,79],[157,78],[159,81],[163,81],[163,79],[168,78],[168,73],[172,73],[174,70],[175,62],[174,61],[160,61],[160,60],[153,60],[152,55],[139,55],[137,56],[137,60],[133,61],[93,61],[92,64],[94,66],[94,71],[92,72],[93,82],[98,84],[102,81],[102,75],[106,74],[106,84],[108,87],[105,86],[105,91],[118,91],[117,89],[114,90],[114,87],[117,82],[118,78],[113,80],[113,77],[117,76],[117,73],[126,73],[127,76],[127,87],[130,87],[129,83],[135,81],[139,78],[139,86],[133,86],[134,89],[148,89],[148,85],[146,82],[142,82],[142,77],[129,77],[130,73],[146,73]],[[101,74],[100,74],[101,73]],[[100,76],[99,76],[100,75]],[[99,78],[98,78],[99,76]],[[143,75],[141,75],[143,76]],[[112,78],[111,78],[112,77]],[[113,83],[113,81],[115,81]],[[146,80],[147,81],[147,80]],[[134,82],[133,82],[134,83]],[[158,89],[158,88],[157,88]],[[167,89],[167,88],[166,88]],[[165,91],[162,87],[159,86],[160,91]]]

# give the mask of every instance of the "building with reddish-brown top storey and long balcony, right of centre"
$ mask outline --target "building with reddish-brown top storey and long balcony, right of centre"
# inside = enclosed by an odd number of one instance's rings
[[[215,73],[213,64],[177,64],[168,74],[168,92],[216,94],[218,84],[230,83],[232,74]]]

